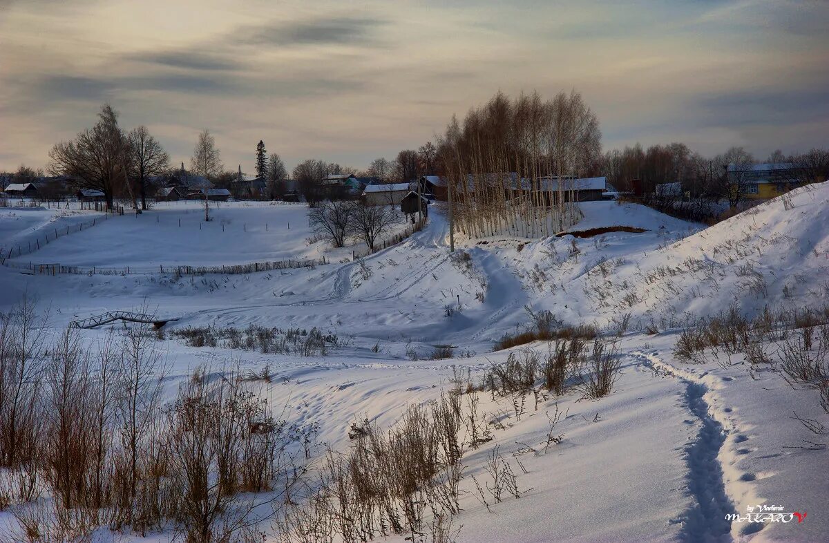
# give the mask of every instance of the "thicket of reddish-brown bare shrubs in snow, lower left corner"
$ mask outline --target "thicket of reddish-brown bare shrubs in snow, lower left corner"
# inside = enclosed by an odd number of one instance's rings
[[[287,451],[307,457],[313,431],[274,419],[226,368],[197,371],[166,407],[150,332],[47,343],[35,315],[24,299],[0,318],[0,506],[15,520],[0,539],[91,541],[103,527],[254,541],[303,476]]]

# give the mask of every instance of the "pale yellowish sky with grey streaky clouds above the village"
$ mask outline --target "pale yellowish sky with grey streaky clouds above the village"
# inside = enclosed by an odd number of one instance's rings
[[[604,148],[764,158],[829,147],[826,0],[0,0],[0,171],[95,122],[146,124],[186,163],[264,139],[288,167],[366,167],[497,90],[579,90]]]

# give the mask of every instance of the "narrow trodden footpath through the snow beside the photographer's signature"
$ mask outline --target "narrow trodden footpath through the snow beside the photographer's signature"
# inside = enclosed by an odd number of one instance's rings
[[[710,415],[705,393],[708,387],[691,374],[660,361],[656,356],[633,353],[644,366],[676,377],[686,385],[685,400],[691,413],[700,419],[701,428],[694,442],[686,448],[688,491],[696,504],[682,519],[682,541],[733,541],[731,523],[725,516],[736,512],[734,502],[725,492],[725,478],[720,463],[720,448],[725,444],[722,424]]]

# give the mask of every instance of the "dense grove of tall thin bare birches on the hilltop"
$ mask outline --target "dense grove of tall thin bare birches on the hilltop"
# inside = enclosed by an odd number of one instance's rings
[[[599,120],[576,92],[542,100],[498,93],[448,124],[439,162],[458,230],[541,237],[581,216],[572,180],[599,168]]]

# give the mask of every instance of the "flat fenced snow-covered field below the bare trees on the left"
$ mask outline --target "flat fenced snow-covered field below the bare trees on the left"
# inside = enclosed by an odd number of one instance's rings
[[[0,213],[2,213],[0,209]],[[7,225],[20,235],[10,238],[9,246],[18,238],[24,242],[40,238],[40,250],[24,254],[12,261],[57,263],[83,268],[129,268],[133,273],[154,272],[159,265],[221,266],[272,262],[288,259],[340,259],[352,250],[366,251],[366,244],[354,242],[340,250],[331,250],[324,241],[313,238],[308,225],[308,208],[304,205],[274,202],[211,202],[211,221],[204,220],[204,206],[199,201],[159,202],[141,215],[126,213],[114,220],[100,221],[82,235],[70,235],[59,244],[43,244],[46,232],[70,225],[77,226],[72,211],[6,211],[19,223]],[[32,216],[29,218],[27,213]],[[77,212],[75,212],[77,213]],[[84,212],[88,213],[88,212]],[[103,216],[102,214],[98,214]],[[392,233],[405,228],[405,219],[398,213],[398,224]],[[28,218],[28,221],[23,218]],[[84,217],[85,222],[87,217]],[[75,221],[79,222],[79,221]],[[32,223],[30,226],[29,223]],[[2,223],[0,223],[2,224]],[[25,229],[25,231],[23,231]],[[13,233],[10,231],[10,235]],[[382,241],[382,240],[380,240]],[[2,245],[0,245],[2,246]],[[90,248],[96,248],[90,250]]]

